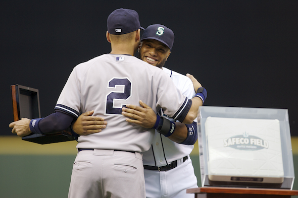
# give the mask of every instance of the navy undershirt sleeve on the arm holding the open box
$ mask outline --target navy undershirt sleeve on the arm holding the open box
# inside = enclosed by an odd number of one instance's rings
[[[33,133],[51,134],[56,131],[67,129],[74,120],[74,117],[69,114],[56,111],[51,115],[36,120],[36,124],[34,119],[30,122],[30,129]]]

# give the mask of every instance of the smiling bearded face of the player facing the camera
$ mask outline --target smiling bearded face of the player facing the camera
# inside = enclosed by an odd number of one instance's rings
[[[155,39],[145,39],[142,41],[139,58],[149,64],[162,68],[165,65],[171,51],[162,42]]]

